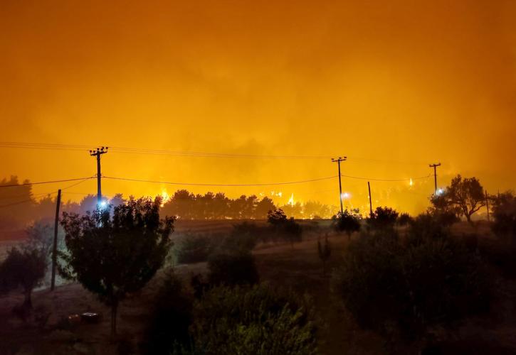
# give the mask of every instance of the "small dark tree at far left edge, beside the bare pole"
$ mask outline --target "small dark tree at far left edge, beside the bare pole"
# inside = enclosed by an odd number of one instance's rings
[[[46,272],[46,254],[40,249],[25,246],[13,248],[0,265],[0,291],[23,288],[23,307],[32,308],[32,290],[39,285]]]

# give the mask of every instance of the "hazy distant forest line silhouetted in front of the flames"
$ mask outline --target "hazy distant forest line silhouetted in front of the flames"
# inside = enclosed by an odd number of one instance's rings
[[[0,229],[19,229],[31,222],[53,219],[56,214],[56,194],[34,195],[31,185],[21,185],[16,176],[0,181],[1,185],[20,185],[0,188]],[[107,199],[113,206],[125,203],[122,194]],[[85,214],[95,209],[97,197],[94,194],[83,197],[80,202],[70,201],[63,191],[62,212]],[[265,219],[271,209],[281,208],[288,217],[298,219],[330,218],[336,207],[320,202],[308,201],[305,204],[284,204],[276,206],[269,197],[241,195],[231,199],[223,192],[206,192],[194,195],[187,190],[177,190],[169,200],[164,201],[161,214],[175,216],[179,219]]]

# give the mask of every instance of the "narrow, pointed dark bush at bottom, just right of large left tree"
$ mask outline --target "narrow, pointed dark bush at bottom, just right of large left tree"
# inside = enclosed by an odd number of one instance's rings
[[[169,355],[171,349],[189,344],[193,300],[181,281],[173,274],[165,276],[152,310],[151,320],[142,342],[144,354]]]

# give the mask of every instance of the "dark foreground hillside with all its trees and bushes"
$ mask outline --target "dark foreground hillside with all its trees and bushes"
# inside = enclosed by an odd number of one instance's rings
[[[272,209],[267,222],[217,234],[175,236],[159,198],[64,214],[58,271],[73,282],[54,293],[33,292],[46,283],[51,261],[48,229],[36,224],[0,264],[1,349],[513,353],[516,197],[489,197],[493,220],[472,222],[466,214],[483,203],[478,181],[453,184],[416,217],[378,207],[366,218],[345,211],[308,224]],[[86,311],[105,320],[74,316]]]

